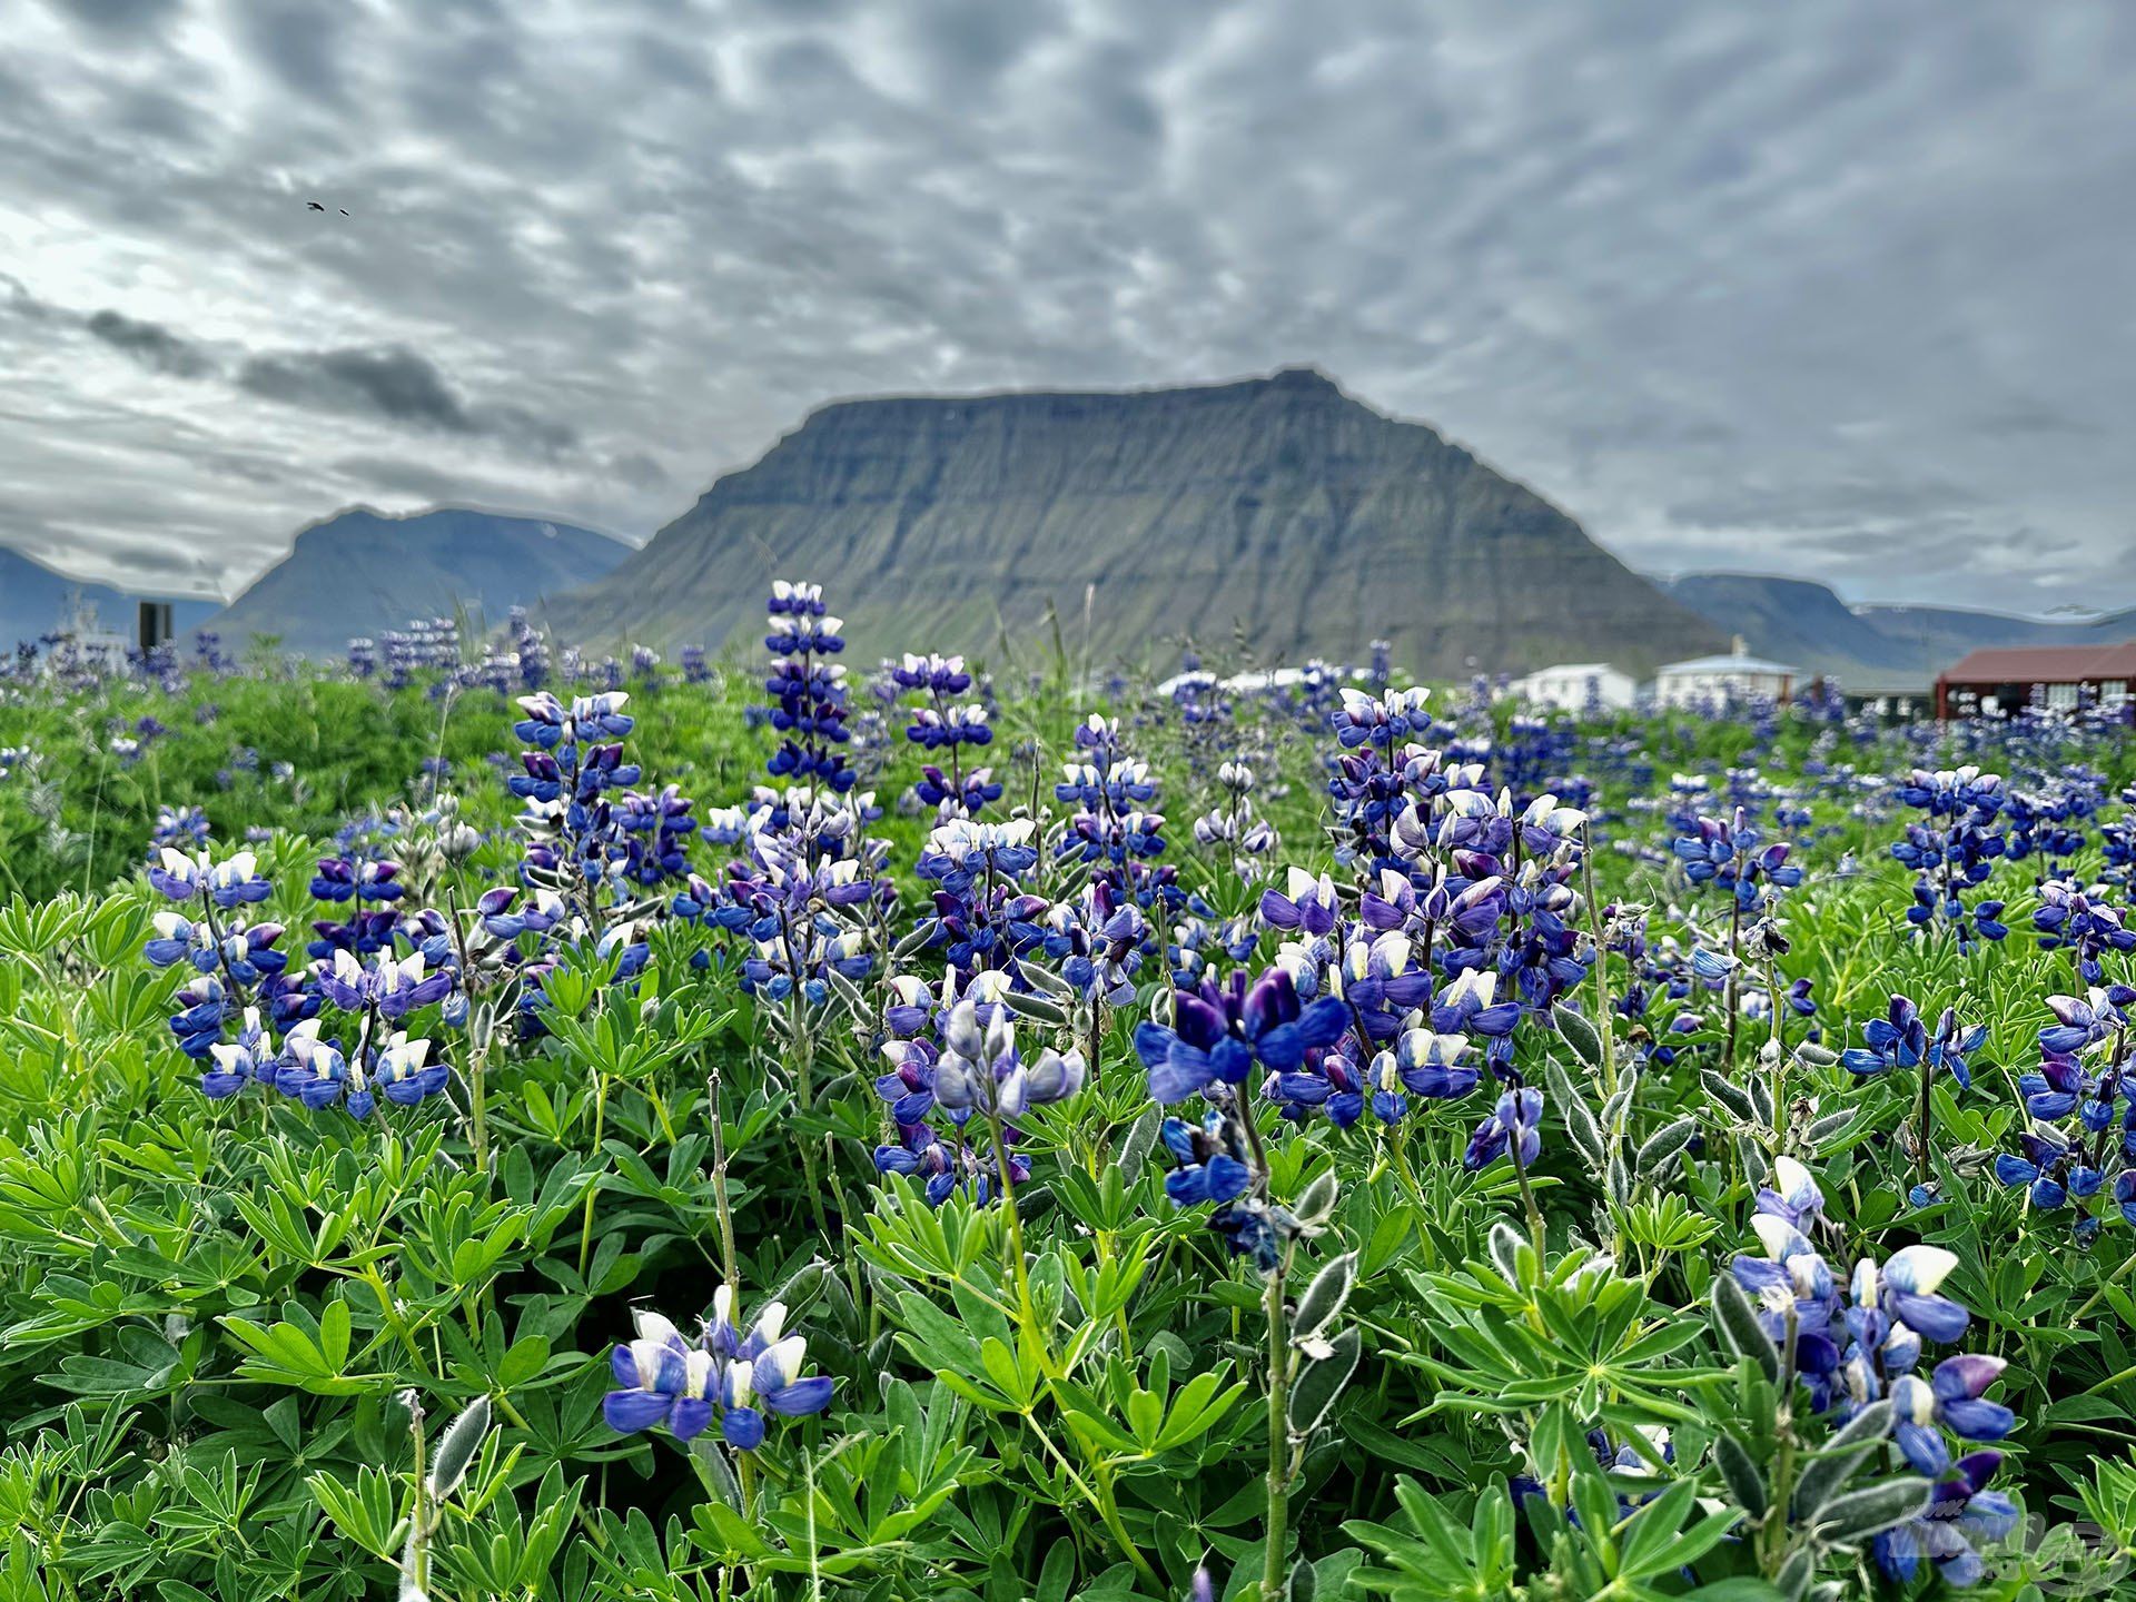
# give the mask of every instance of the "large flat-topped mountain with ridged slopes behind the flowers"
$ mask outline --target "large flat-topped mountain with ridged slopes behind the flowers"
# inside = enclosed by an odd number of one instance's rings
[[[1000,666],[1004,637],[1032,660],[1049,607],[1094,664],[1235,630],[1260,662],[1388,639],[1423,675],[1726,643],[1555,506],[1305,370],[827,406],[549,615],[564,639],[718,645],[756,630],[773,577],[820,581],[861,660]]]

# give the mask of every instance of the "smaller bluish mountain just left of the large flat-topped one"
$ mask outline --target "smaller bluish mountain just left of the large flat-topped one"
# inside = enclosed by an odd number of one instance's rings
[[[333,656],[359,634],[461,611],[496,628],[609,572],[630,547],[534,517],[440,506],[387,517],[355,506],[297,534],[295,547],[216,617],[231,647],[273,634],[282,649]]]

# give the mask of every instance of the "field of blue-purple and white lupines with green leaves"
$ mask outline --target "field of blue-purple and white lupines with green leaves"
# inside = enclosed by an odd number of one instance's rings
[[[2117,718],[0,679],[0,1598],[2108,1596]]]

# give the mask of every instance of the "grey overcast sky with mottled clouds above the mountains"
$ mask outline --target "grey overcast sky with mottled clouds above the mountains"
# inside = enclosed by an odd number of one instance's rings
[[[1316,363],[1640,568],[2136,602],[2127,0],[4,11],[0,543],[83,577]]]

